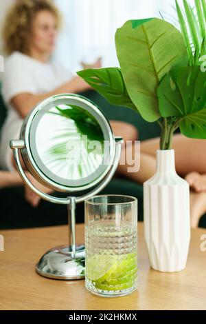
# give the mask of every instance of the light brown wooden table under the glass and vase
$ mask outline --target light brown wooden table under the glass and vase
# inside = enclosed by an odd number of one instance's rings
[[[185,271],[165,274],[150,269],[144,227],[139,223],[139,290],[122,298],[101,298],[87,292],[84,280],[57,281],[35,272],[40,257],[67,241],[67,227],[45,227],[0,232],[5,252],[0,252],[0,310],[205,310],[206,252],[201,236],[192,230]],[[84,225],[77,225],[82,243]]]

